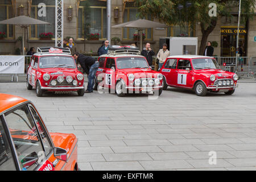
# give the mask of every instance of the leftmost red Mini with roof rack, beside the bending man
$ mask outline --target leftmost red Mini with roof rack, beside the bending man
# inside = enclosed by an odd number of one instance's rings
[[[36,96],[46,91],[76,91],[84,96],[84,75],[78,71],[68,48],[38,48],[27,71],[27,89],[36,88]]]

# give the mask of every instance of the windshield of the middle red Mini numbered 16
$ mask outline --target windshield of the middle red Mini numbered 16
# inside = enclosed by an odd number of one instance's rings
[[[147,60],[143,57],[121,57],[117,59],[117,68],[149,68]]]

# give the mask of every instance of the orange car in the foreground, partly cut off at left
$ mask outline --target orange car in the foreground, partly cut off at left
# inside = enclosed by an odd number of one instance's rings
[[[77,138],[49,133],[32,102],[0,93],[0,170],[77,171]]]

